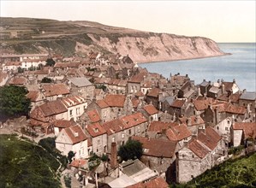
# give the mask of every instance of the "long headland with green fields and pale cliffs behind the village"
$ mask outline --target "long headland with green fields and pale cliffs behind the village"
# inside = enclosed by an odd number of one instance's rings
[[[134,62],[222,56],[210,38],[141,32],[92,21],[0,18],[1,50],[86,56],[89,51],[129,55]]]

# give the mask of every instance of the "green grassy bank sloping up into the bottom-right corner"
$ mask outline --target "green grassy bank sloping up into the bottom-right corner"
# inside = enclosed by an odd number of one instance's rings
[[[223,162],[186,185],[171,187],[256,187],[256,153]]]

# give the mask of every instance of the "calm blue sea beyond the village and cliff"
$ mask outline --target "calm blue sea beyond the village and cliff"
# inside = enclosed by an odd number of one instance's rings
[[[256,91],[256,44],[255,43],[221,43],[221,50],[231,53],[230,56],[217,56],[203,59],[182,60],[175,62],[141,63],[152,73],[161,73],[165,78],[170,73],[188,73],[195,84],[203,79],[216,82],[217,79],[232,81],[235,79],[240,90]]]

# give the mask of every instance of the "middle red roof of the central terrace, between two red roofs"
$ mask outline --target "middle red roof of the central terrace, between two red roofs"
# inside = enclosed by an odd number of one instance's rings
[[[108,135],[111,135],[116,132],[121,132],[126,127],[124,122],[120,119],[104,122],[102,126],[104,127],[104,130],[106,130]]]

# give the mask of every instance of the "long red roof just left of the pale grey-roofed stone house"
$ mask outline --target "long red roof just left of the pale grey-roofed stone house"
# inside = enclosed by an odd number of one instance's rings
[[[69,94],[68,87],[64,84],[56,85],[42,85],[42,88],[45,90],[45,97],[66,95]]]

